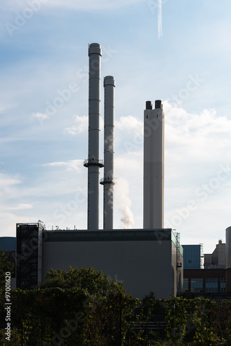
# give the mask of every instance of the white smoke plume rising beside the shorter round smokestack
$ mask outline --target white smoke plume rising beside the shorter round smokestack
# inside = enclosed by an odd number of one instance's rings
[[[122,228],[129,229],[134,224],[133,213],[131,212],[131,199],[129,199],[129,183],[126,179],[120,178],[115,181],[115,198],[121,212]]]

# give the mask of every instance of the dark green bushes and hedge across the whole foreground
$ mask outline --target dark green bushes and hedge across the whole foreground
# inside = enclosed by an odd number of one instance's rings
[[[93,268],[50,271],[37,289],[11,291],[10,342],[4,302],[1,290],[1,345],[231,345],[230,300],[141,301]]]

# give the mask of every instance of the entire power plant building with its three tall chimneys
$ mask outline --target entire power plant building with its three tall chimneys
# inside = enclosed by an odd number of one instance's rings
[[[113,229],[115,78],[104,78],[104,162],[100,159],[100,44],[89,45],[89,150],[87,230],[46,230],[41,222],[17,224],[17,287],[33,289],[53,269],[92,266],[122,281],[127,293],[169,298],[183,289],[183,248],[163,228],[164,113],[160,100],[146,102],[144,119],[144,228]],[[100,168],[104,177],[100,181]],[[104,187],[99,230],[99,188]],[[142,183],[142,182],[140,182]],[[25,251],[26,249],[26,251]]]

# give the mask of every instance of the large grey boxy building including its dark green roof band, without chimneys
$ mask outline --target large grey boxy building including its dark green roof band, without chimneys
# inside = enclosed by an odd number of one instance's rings
[[[167,299],[182,292],[183,248],[171,229],[43,230],[42,238],[42,282],[50,268],[92,266],[121,281],[134,298],[154,291]]]

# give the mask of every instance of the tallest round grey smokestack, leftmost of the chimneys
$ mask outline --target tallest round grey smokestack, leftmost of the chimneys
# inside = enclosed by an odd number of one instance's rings
[[[88,213],[87,229],[99,229],[100,167],[100,44],[89,45],[89,158],[88,167]]]

